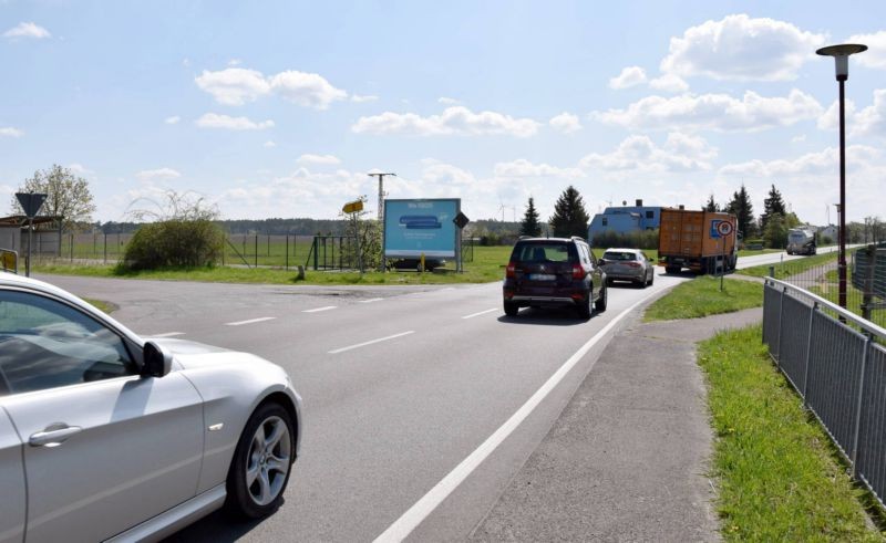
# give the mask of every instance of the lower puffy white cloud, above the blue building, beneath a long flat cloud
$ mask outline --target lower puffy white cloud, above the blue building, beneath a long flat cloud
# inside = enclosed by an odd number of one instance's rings
[[[629,136],[612,153],[591,153],[579,166],[604,171],[707,171],[712,169],[709,160],[715,156],[717,149],[704,139],[671,133],[660,147],[648,136]]]

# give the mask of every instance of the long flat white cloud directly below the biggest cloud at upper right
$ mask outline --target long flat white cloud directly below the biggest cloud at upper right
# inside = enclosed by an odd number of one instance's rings
[[[591,118],[629,129],[701,128],[758,132],[816,118],[822,106],[808,94],[791,91],[786,97],[763,97],[746,91],[741,101],[727,94],[648,96],[627,109],[594,112]]]

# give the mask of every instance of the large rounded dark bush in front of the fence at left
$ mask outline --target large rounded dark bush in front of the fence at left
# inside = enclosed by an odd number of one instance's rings
[[[209,220],[163,220],[140,228],[126,246],[125,270],[196,268],[222,258],[224,234]]]

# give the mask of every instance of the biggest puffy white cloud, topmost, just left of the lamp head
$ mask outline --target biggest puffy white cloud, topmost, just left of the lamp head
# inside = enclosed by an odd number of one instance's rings
[[[774,19],[734,14],[707,21],[671,38],[661,71],[731,81],[791,81],[815,56],[825,34]]]

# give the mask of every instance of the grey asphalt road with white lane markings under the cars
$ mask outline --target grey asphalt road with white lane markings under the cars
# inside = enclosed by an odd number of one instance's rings
[[[40,279],[119,305],[113,316],[140,334],[253,352],[292,376],[306,428],[286,503],[253,524],[214,514],[171,540],[215,542],[464,540],[609,337],[637,314],[627,311],[689,278],[658,269],[652,288],[610,288],[608,311],[589,321],[565,310],[506,317],[498,282],[330,289]]]

